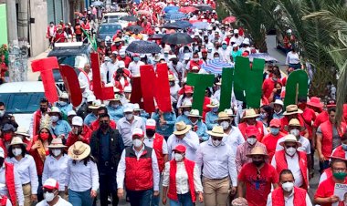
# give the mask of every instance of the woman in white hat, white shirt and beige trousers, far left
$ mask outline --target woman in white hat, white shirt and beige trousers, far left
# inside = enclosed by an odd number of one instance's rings
[[[15,165],[22,182],[24,206],[31,206],[37,201],[38,178],[35,160],[26,153],[26,144],[18,137],[12,139],[7,154],[6,161]]]

